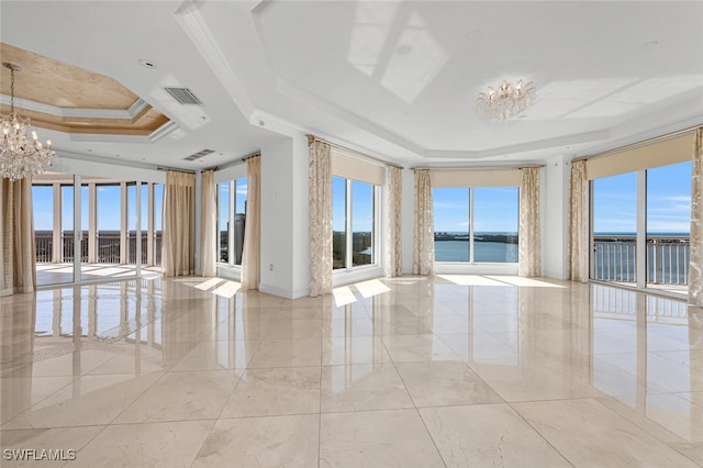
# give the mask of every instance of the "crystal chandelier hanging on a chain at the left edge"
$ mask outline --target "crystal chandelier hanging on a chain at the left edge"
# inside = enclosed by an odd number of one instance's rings
[[[14,73],[22,68],[14,64],[3,63],[10,69],[12,81],[10,85],[10,114],[0,115],[2,142],[0,142],[0,175],[10,180],[23,179],[44,172],[46,166],[52,165],[56,153],[52,151],[52,142],[46,141],[46,147],[32,131],[32,141],[26,134],[32,129],[30,119],[22,119],[14,112]]]

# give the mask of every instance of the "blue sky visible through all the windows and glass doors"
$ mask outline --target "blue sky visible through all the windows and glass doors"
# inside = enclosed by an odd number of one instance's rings
[[[156,205],[163,202],[163,186],[155,190]],[[134,204],[134,189],[130,190],[129,207]],[[226,200],[228,187],[220,185]],[[236,212],[244,212],[246,200],[246,178],[236,181]],[[142,196],[142,226],[146,227],[146,189]],[[344,230],[345,205],[344,179],[333,178],[333,230]],[[373,220],[372,187],[353,181],[353,230],[370,231]],[[63,189],[64,229],[72,225],[72,188]],[[81,188],[82,229],[88,229],[87,188]],[[34,188],[34,229],[51,231],[52,188]],[[517,232],[517,189],[515,187],[475,189],[476,232]],[[434,189],[435,231],[467,232],[469,222],[469,199],[467,188]],[[98,188],[98,229],[116,231],[120,229],[119,187]],[[593,194],[594,230],[596,233],[634,233],[636,227],[636,175],[634,172],[606,177],[594,181]],[[220,229],[226,229],[227,204],[221,203]],[[134,209],[132,209],[132,212]],[[688,233],[691,213],[691,163],[658,167],[647,171],[647,231],[649,233]],[[160,230],[160,213],[156,216],[156,227]],[[129,216],[129,226],[134,229],[135,218]]]

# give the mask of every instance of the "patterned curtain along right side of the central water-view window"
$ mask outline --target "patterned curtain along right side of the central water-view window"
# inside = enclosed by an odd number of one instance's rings
[[[539,238],[539,168],[524,167],[520,179],[520,234],[517,237],[520,276],[542,275]]]

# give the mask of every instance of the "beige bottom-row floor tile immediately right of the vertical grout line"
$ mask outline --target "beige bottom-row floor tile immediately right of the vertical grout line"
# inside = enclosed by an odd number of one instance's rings
[[[415,410],[323,414],[321,467],[443,467]]]

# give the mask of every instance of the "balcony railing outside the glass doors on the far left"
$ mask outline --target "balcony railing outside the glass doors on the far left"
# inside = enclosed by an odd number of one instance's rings
[[[148,236],[142,233],[142,265],[148,261]],[[36,231],[34,233],[36,261],[40,264],[52,263],[54,258],[54,234],[51,231]],[[96,236],[98,264],[120,264],[122,237],[119,231],[101,231]],[[127,264],[136,264],[136,233],[127,234]],[[81,263],[88,263],[88,233],[82,232],[80,238]],[[59,261],[74,261],[74,233],[62,233],[63,255]],[[59,247],[62,248],[62,247]],[[154,235],[154,265],[161,264],[161,232]]]

